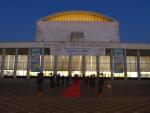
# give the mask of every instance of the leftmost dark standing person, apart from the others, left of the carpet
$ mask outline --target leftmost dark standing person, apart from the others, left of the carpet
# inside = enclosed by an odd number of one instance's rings
[[[40,72],[37,74],[38,95],[42,95],[42,84],[43,84],[43,73]]]

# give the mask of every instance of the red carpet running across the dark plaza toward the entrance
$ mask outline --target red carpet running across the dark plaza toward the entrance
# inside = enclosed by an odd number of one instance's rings
[[[64,97],[80,97],[80,80],[75,79],[73,84],[63,93]]]

